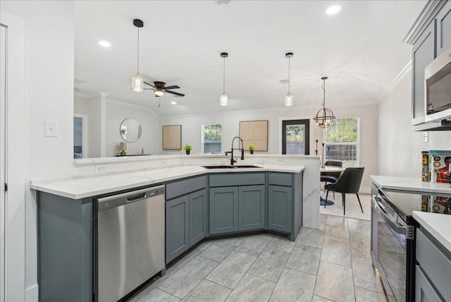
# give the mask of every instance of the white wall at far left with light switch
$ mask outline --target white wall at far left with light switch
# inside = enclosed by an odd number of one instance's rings
[[[1,9],[25,20],[27,181],[23,278],[27,301],[37,301],[36,200],[29,189],[29,180],[66,176],[74,169],[74,4],[1,1]],[[44,121],[58,124],[58,137],[44,137]]]

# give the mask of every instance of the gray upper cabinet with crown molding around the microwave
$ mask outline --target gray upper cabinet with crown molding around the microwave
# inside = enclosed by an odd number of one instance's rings
[[[451,1],[428,1],[404,42],[412,49],[412,126],[415,131],[451,130],[447,119],[427,122],[424,70],[451,45]],[[429,115],[428,115],[429,116]]]

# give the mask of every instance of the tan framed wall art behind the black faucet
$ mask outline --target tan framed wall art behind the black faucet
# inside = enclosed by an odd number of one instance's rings
[[[254,145],[255,151],[268,151],[268,121],[240,121],[240,138],[245,145]]]

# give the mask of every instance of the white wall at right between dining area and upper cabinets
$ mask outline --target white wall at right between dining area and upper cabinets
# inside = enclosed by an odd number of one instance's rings
[[[421,177],[421,151],[451,150],[451,131],[423,132],[410,126],[412,73],[407,73],[379,104],[378,174]]]

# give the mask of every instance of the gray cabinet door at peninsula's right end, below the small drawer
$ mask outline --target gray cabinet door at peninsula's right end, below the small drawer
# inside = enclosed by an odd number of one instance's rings
[[[292,232],[292,187],[268,185],[268,229]]]

